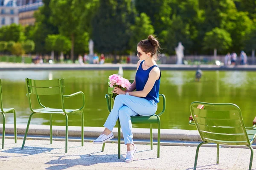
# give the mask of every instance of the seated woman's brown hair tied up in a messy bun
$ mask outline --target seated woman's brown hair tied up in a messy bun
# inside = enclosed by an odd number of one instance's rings
[[[160,52],[159,49],[161,48],[158,40],[153,35],[149,35],[146,40],[141,40],[138,46],[144,53],[151,53],[151,57],[153,57],[154,60],[158,59],[156,54]]]

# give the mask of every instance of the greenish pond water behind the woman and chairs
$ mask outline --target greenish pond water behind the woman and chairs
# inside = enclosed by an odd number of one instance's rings
[[[108,92],[107,79],[113,71],[0,71],[3,87],[3,108],[15,108],[17,124],[26,124],[31,111],[26,97],[25,78],[58,79],[64,78],[66,93],[83,91],[84,126],[102,127],[108,117],[105,94]],[[126,79],[134,79],[135,71],[124,71]],[[160,117],[161,128],[195,130],[188,124],[189,105],[193,101],[230,102],[241,108],[246,126],[251,126],[256,116],[256,72],[250,71],[203,71],[201,82],[195,82],[195,71],[162,71],[160,94],[166,96],[166,112]],[[65,99],[66,108],[80,108],[81,96]],[[37,108],[35,96],[32,97]],[[41,96],[43,105],[61,108],[59,96]],[[162,102],[158,104],[158,113]],[[13,123],[12,114],[6,115],[6,123]],[[0,116],[0,123],[3,122]],[[48,114],[36,114],[31,124],[49,125]],[[65,125],[63,115],[53,115],[53,125]],[[70,126],[81,125],[80,116],[69,116]],[[149,128],[149,125],[135,124],[133,127]],[[153,125],[157,128],[157,125]]]

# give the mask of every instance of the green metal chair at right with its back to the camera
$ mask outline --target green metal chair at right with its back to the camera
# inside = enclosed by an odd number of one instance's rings
[[[189,125],[195,125],[203,142],[198,144],[195,154],[194,170],[202,144],[217,144],[217,164],[219,163],[219,145],[244,145],[250,148],[250,165],[253,163],[251,144],[256,136],[256,119],[252,127],[245,127],[240,108],[232,103],[192,102]]]

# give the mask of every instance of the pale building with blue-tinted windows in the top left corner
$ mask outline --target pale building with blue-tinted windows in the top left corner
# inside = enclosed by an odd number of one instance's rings
[[[0,0],[0,27],[19,23],[16,0]]]

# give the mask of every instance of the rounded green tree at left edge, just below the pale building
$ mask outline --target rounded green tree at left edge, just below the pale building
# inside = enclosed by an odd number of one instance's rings
[[[20,41],[26,39],[23,33],[24,29],[21,25],[11,24],[0,28],[0,41]]]

